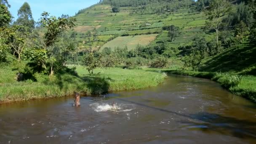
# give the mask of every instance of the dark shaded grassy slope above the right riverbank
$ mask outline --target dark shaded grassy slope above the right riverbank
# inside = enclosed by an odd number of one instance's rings
[[[236,45],[216,56],[203,59],[199,71],[256,75],[256,46]]]

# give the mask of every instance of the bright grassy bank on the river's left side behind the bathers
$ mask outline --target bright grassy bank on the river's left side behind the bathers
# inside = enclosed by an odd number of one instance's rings
[[[35,74],[34,81],[18,82],[18,69],[1,66],[0,68],[0,103],[45,99],[73,94],[102,94],[109,91],[134,90],[156,86],[165,79],[164,74],[128,69],[96,69],[96,75],[89,75],[83,67],[74,72],[63,72],[49,77]],[[98,74],[97,74],[98,73]]]

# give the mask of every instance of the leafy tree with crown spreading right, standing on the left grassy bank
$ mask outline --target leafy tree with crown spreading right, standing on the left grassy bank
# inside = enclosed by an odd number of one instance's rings
[[[43,66],[47,69],[47,64],[50,67],[50,75],[54,74],[55,70],[61,69],[64,64],[63,59],[61,59],[61,53],[58,47],[54,47],[54,44],[59,41],[59,35],[67,29],[75,26],[74,22],[76,19],[70,18],[56,18],[55,16],[49,17],[49,13],[42,13],[41,23],[42,26],[47,29],[45,32],[43,41],[44,49],[47,50],[48,59],[43,61]]]

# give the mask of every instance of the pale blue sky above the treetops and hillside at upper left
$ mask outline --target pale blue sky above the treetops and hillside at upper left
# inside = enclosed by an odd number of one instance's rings
[[[50,15],[61,16],[68,14],[74,16],[77,11],[99,2],[99,0],[8,0],[10,11],[15,19],[19,8],[24,2],[29,3],[35,21],[40,19],[41,13],[47,11]]]

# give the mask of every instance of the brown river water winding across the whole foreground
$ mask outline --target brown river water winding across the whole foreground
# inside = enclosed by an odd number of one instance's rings
[[[256,104],[211,80],[170,75],[154,88],[73,102],[1,104],[0,144],[256,144]]]

